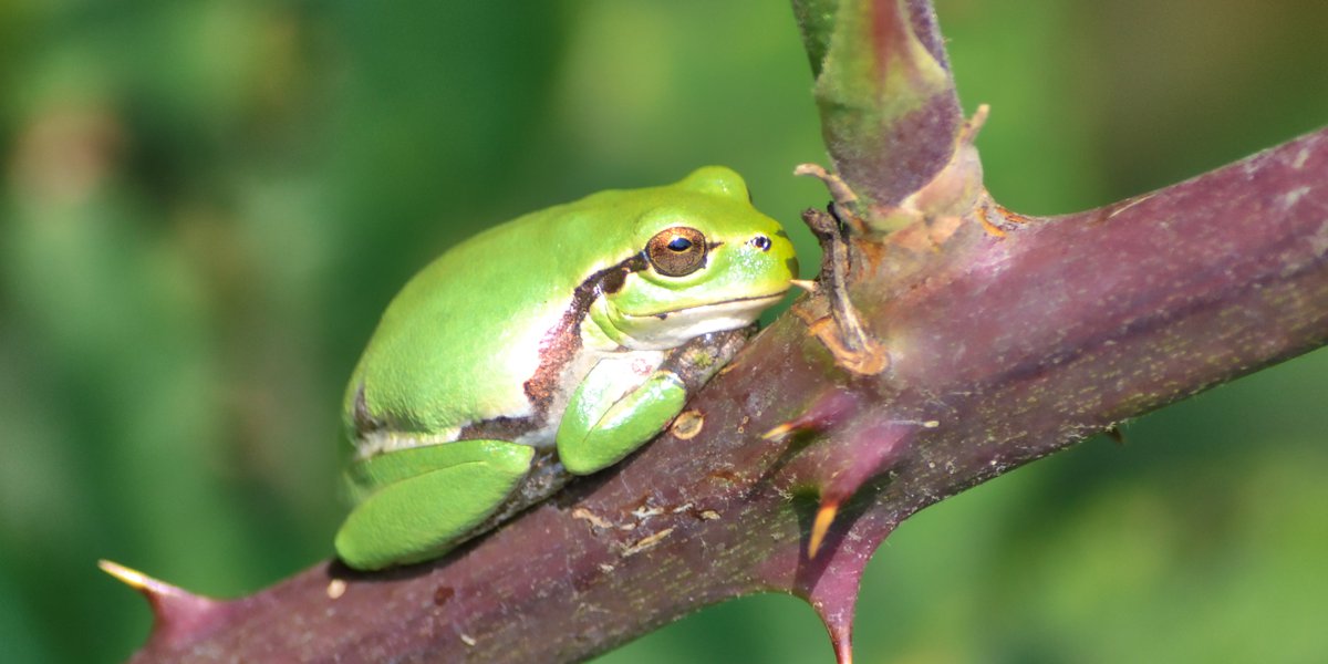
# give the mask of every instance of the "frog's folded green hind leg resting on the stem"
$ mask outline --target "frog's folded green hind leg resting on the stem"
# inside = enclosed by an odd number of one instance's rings
[[[380,570],[437,558],[489,518],[530,471],[535,450],[456,441],[396,450],[348,471],[356,506],[336,534],[351,567]]]

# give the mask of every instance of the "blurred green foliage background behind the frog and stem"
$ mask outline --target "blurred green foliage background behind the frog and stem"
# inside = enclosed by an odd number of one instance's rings
[[[1020,211],[1328,121],[1324,3],[939,9]],[[0,661],[142,641],[98,558],[232,596],[327,556],[343,381],[449,243],[708,162],[801,231],[809,86],[777,0],[0,0]],[[867,574],[858,661],[1328,660],[1325,401],[1319,352],[927,510]],[[831,657],[761,596],[603,661]]]

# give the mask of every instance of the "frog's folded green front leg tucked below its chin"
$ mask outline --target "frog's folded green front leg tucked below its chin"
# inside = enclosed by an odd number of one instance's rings
[[[578,475],[608,467],[664,430],[685,402],[687,385],[672,371],[641,381],[628,361],[600,360],[563,412],[558,457]]]

